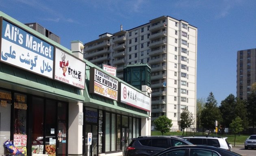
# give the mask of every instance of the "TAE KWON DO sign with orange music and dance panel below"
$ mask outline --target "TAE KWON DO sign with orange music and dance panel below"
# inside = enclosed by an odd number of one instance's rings
[[[118,81],[104,72],[90,68],[90,93],[117,100]]]

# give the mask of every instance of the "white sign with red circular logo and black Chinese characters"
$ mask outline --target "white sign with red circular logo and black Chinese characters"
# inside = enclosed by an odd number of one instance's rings
[[[150,97],[121,83],[120,102],[150,112]]]

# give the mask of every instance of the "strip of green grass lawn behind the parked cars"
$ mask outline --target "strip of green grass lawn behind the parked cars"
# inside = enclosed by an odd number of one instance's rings
[[[160,131],[151,131],[151,135],[162,135],[162,133]],[[167,132],[167,133],[164,133],[163,135],[182,136],[182,132]],[[206,136],[206,134],[202,133],[202,132],[200,132],[200,133],[198,133],[198,132],[197,133],[194,133],[194,132],[186,133],[186,131],[184,132],[184,136],[193,136],[193,135],[195,135],[195,136],[196,135],[201,135],[201,136],[205,135]],[[216,133],[210,133],[210,136],[228,137],[227,141],[234,146],[234,138],[235,138],[234,135],[219,135],[219,134],[216,135]],[[240,135],[240,136],[236,135],[236,144],[240,144],[240,145],[243,144],[248,137],[249,137],[249,135]]]

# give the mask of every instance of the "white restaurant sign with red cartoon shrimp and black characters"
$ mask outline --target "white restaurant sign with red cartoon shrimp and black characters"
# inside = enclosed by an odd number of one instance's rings
[[[54,79],[85,89],[85,62],[56,48]]]

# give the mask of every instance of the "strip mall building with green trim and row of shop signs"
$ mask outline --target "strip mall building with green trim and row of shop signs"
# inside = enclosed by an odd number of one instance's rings
[[[0,155],[121,156],[150,135],[150,88],[139,91],[0,12]]]

